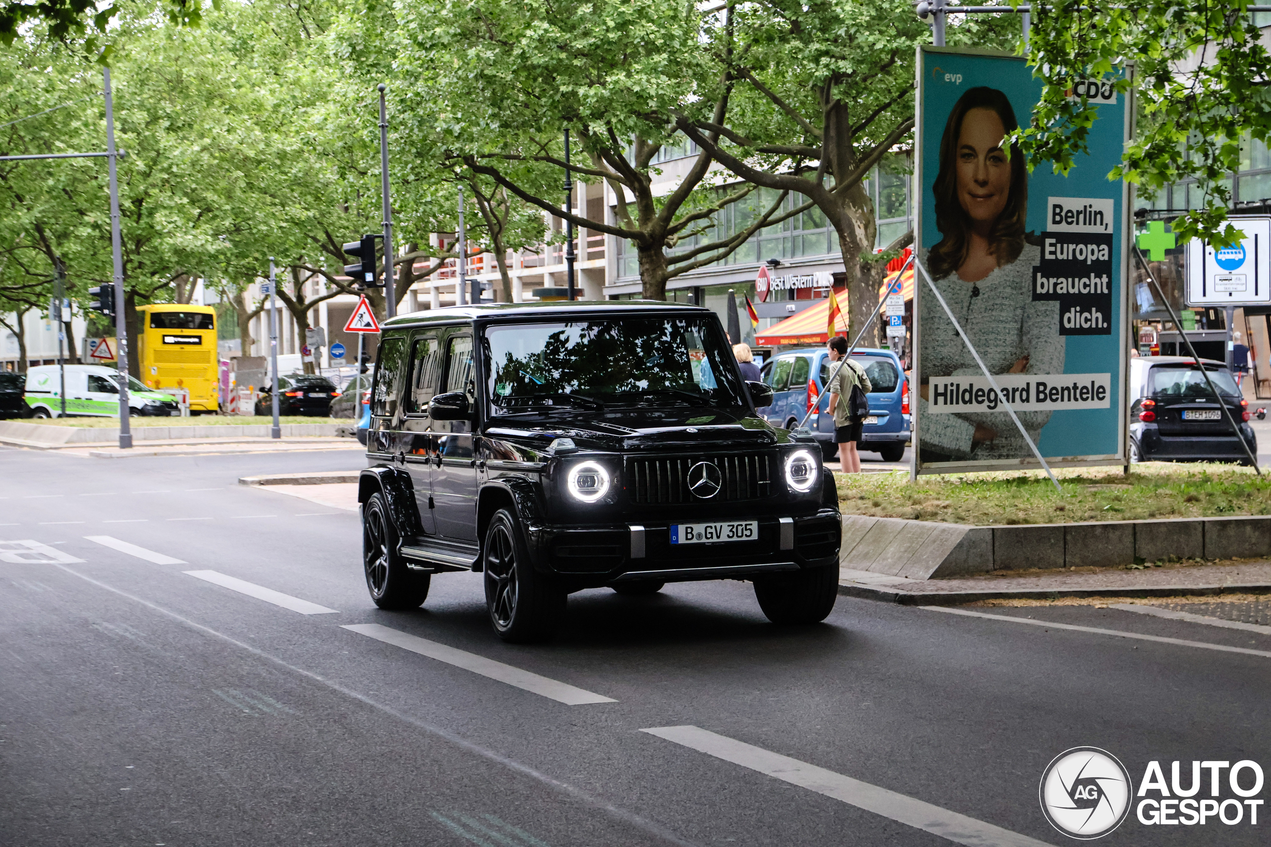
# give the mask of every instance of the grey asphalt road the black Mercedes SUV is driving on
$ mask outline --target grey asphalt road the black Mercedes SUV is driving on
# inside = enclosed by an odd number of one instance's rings
[[[1038,780],[1069,748],[1136,790],[1271,768],[1271,630],[852,598],[782,629],[716,582],[582,592],[510,646],[474,574],[377,611],[356,513],[235,484],[361,464],[0,451],[0,843],[1063,844]],[[1101,843],[1265,844],[1268,815]]]

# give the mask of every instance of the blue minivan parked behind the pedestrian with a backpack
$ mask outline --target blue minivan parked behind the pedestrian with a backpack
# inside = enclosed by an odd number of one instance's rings
[[[859,448],[878,452],[885,462],[899,462],[905,456],[910,422],[909,383],[900,359],[880,349],[857,349],[852,358],[864,367],[873,385]],[[830,395],[824,389],[834,367],[825,348],[805,348],[778,353],[761,370],[764,382],[773,389],[773,405],[759,414],[774,427],[791,429],[816,404],[807,428],[827,457],[835,455],[836,447],[834,415],[826,411]]]

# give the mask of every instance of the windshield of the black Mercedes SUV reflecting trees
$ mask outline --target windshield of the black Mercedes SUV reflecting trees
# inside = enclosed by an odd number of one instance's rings
[[[732,350],[707,317],[624,317],[491,326],[488,395],[526,406],[742,405]]]

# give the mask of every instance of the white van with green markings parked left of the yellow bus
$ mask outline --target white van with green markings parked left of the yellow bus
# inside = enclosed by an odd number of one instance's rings
[[[119,414],[119,372],[100,364],[67,364],[66,390],[61,368],[41,364],[27,371],[27,405],[33,418],[61,418],[62,394],[66,417],[114,418]],[[128,377],[128,409],[133,415],[179,414],[177,400]]]

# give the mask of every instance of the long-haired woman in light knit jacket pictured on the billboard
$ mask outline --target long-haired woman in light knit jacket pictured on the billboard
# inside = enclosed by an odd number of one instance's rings
[[[1032,300],[1033,265],[1041,257],[1024,232],[1028,171],[1017,147],[1009,154],[1002,147],[1017,127],[1002,91],[979,86],[958,98],[941,136],[932,185],[943,237],[921,260],[990,373],[1063,373],[1059,303]],[[1031,458],[1005,411],[932,414],[929,380],[984,372],[935,297],[924,293],[920,461]],[[1018,414],[1036,443],[1050,413]]]

